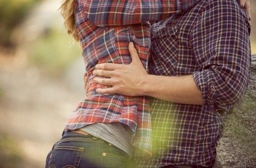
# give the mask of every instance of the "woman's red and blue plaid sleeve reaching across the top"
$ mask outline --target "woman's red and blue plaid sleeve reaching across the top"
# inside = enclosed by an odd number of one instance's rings
[[[157,21],[187,12],[200,0],[84,0],[87,17],[97,26]]]

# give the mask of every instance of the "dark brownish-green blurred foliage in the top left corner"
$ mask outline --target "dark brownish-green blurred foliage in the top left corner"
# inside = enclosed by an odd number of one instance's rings
[[[11,41],[12,30],[20,23],[40,0],[1,0],[0,1],[0,45],[11,47],[15,43]]]

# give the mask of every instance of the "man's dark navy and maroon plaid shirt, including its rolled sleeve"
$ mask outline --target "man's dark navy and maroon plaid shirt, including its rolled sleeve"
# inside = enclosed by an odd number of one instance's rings
[[[222,114],[241,99],[249,79],[249,22],[238,2],[204,0],[152,26],[150,73],[193,74],[203,105],[152,98],[153,157],[136,157],[139,167],[214,163]]]

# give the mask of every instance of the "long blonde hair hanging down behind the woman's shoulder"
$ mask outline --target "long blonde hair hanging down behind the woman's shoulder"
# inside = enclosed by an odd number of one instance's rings
[[[76,41],[79,41],[75,23],[75,2],[76,0],[64,0],[59,8],[61,16],[65,19],[64,25]]]

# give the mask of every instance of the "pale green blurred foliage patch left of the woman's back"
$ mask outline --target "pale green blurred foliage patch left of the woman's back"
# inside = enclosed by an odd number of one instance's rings
[[[60,75],[70,63],[81,55],[77,42],[66,33],[49,30],[44,37],[37,39],[29,47],[29,61],[49,76]]]

